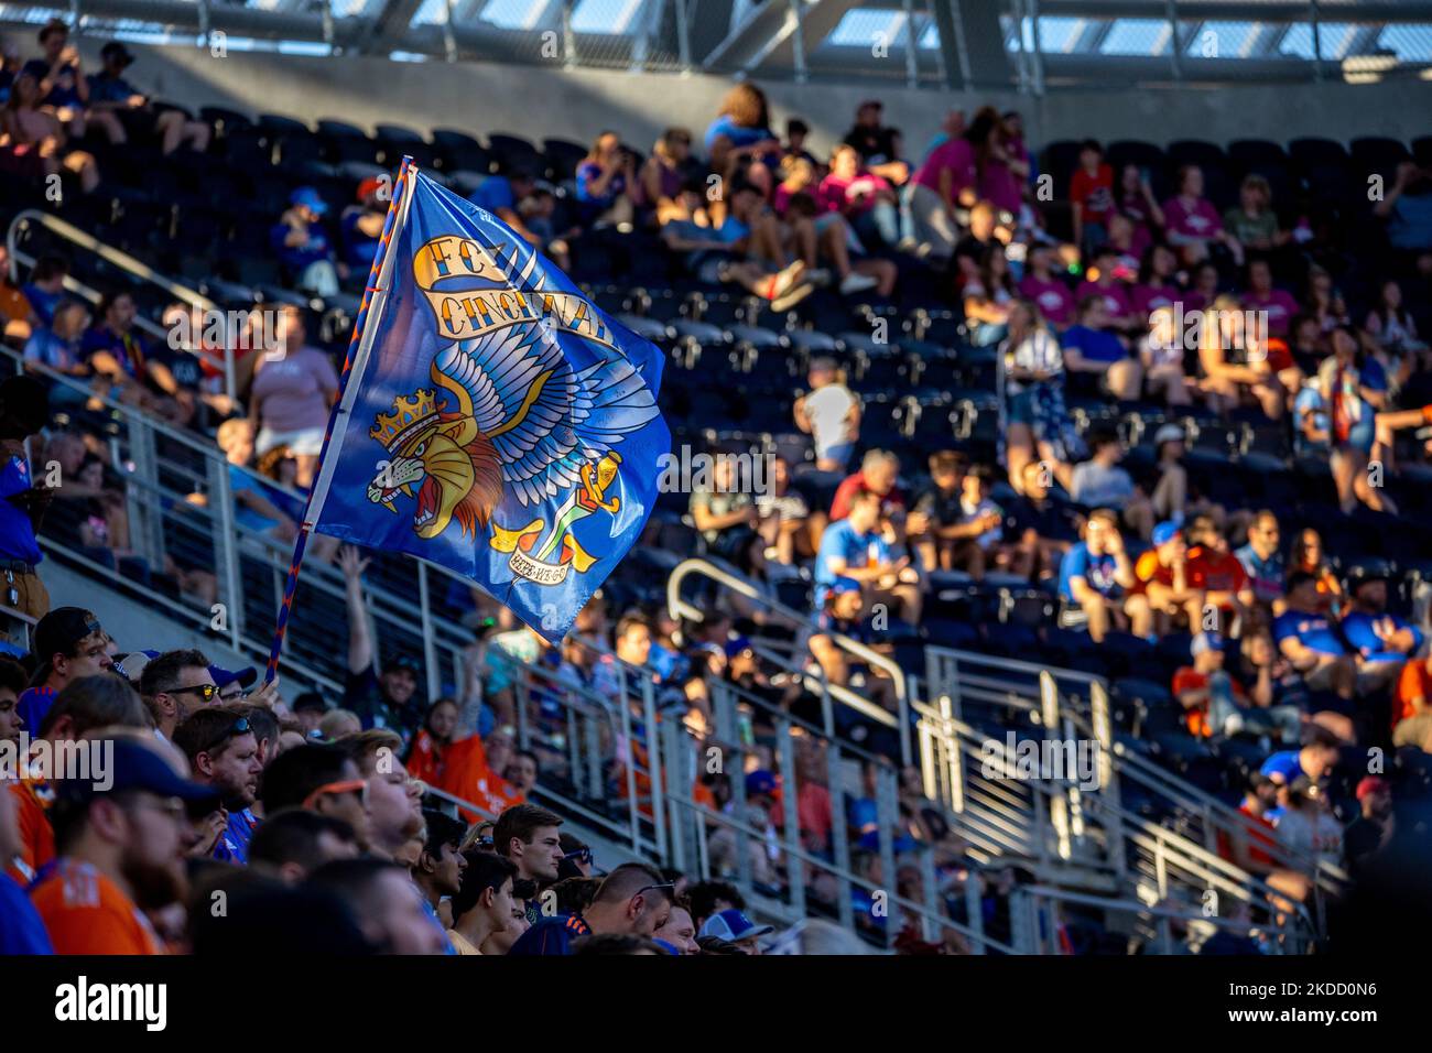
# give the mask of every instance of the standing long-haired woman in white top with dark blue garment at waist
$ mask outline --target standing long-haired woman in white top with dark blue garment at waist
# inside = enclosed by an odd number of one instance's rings
[[[1038,460],[1071,487],[1071,463],[1083,453],[1083,441],[1064,407],[1064,355],[1032,301],[1020,299],[1010,309],[1010,335],[1000,354],[1010,481],[1020,486],[1024,466]]]

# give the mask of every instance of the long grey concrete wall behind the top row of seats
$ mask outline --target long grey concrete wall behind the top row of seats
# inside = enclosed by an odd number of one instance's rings
[[[97,43],[83,43],[87,54],[97,53]],[[726,77],[709,76],[252,52],[213,57],[208,50],[179,46],[136,44],[133,50],[139,54],[130,69],[135,85],[189,106],[223,105],[337,117],[359,126],[391,122],[577,142],[611,128],[643,148],[666,125],[705,130],[730,86]],[[776,122],[800,115],[816,129],[816,149],[843,135],[856,103],[871,96],[885,102],[888,122],[905,132],[912,153],[935,133],[949,106],[968,109],[985,102],[1024,112],[1034,143],[1084,136],[1167,143],[1181,138],[1286,142],[1313,135],[1346,140],[1359,135],[1411,139],[1432,133],[1428,82],[1130,87],[1123,93],[1060,92],[1038,100],[1014,93],[915,92],[869,82],[762,87],[770,96]]]

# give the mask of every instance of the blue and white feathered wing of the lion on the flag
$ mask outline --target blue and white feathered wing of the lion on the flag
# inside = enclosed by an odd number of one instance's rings
[[[524,506],[574,486],[583,464],[659,413],[632,362],[611,355],[574,371],[533,322],[450,344],[434,367],[467,391],[473,420]]]

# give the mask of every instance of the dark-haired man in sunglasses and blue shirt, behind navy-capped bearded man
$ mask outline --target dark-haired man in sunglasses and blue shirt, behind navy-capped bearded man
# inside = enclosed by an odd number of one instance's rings
[[[229,706],[199,709],[175,729],[173,744],[189,759],[195,781],[219,797],[223,828],[211,855],[221,862],[246,867],[249,838],[258,818],[259,744],[249,719]]]

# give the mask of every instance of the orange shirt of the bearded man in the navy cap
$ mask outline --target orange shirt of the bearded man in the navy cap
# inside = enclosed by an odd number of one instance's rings
[[[62,860],[30,893],[56,954],[163,954],[153,925],[87,862]]]

